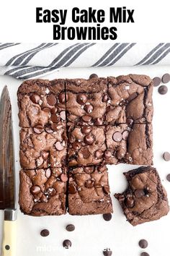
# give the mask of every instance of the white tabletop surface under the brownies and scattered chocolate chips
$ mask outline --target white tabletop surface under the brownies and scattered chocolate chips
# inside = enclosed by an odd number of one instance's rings
[[[161,77],[169,72],[169,67],[123,67],[123,68],[98,68],[98,69],[63,69],[55,74],[50,74],[49,79],[56,77],[84,77],[97,73],[100,76],[119,74],[148,74],[151,77]],[[45,77],[43,77],[45,78]],[[17,108],[17,88],[21,81],[11,77],[0,77],[0,93],[4,85],[8,85],[12,100],[12,111],[14,120],[14,142],[16,154],[16,178],[17,195],[19,187],[19,126]],[[170,83],[169,83],[170,93]],[[153,118],[153,153],[154,166],[158,168],[161,180],[170,195],[170,183],[166,181],[166,174],[170,173],[170,162],[161,158],[164,151],[170,151],[169,139],[169,93],[160,95],[157,88],[153,90],[154,118]],[[109,167],[109,184],[111,187],[114,214],[112,220],[104,221],[102,216],[48,216],[30,217],[24,216],[18,210],[17,225],[17,256],[100,256],[106,247],[112,249],[113,256],[138,256],[143,250],[138,247],[139,239],[148,240],[147,252],[151,256],[169,256],[169,231],[170,214],[159,221],[144,223],[133,227],[125,221],[117,200],[113,197],[115,192],[122,192],[126,187],[123,171],[128,171],[136,166],[121,164]],[[17,198],[18,200],[18,198]],[[3,211],[0,213],[2,231]],[[68,223],[76,226],[75,231],[68,232],[65,227]],[[50,236],[40,236],[42,229],[49,229]],[[64,249],[64,239],[71,239],[71,249]],[[1,234],[0,234],[1,240]],[[0,241],[1,242],[1,241]]]

